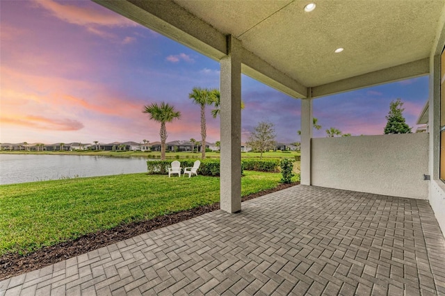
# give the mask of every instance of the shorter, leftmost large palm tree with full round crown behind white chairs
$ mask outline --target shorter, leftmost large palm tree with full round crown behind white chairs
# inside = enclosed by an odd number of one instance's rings
[[[181,112],[175,110],[175,106],[162,102],[161,105],[152,103],[144,106],[143,113],[149,113],[150,120],[161,122],[161,160],[165,160],[165,140],[167,140],[167,129],[165,122],[172,122],[175,118],[181,118]]]

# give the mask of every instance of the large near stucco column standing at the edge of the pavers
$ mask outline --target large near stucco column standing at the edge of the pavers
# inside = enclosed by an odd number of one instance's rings
[[[221,60],[220,207],[241,211],[241,42],[227,36],[228,55]]]

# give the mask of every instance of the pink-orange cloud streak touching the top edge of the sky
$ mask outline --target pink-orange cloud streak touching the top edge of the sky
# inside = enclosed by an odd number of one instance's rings
[[[136,26],[136,23],[122,17],[117,13],[111,11],[106,13],[106,10],[98,10],[93,6],[74,6],[67,4],[60,4],[52,0],[40,0],[38,5],[48,10],[54,17],[61,19],[70,24],[79,26]]]

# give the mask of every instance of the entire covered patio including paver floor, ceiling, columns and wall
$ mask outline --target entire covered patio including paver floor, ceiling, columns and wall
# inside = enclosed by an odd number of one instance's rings
[[[221,210],[0,295],[445,295],[444,0],[95,2],[220,61]],[[302,99],[302,185],[241,205],[242,73]],[[317,97],[423,75],[429,133],[312,138]]]

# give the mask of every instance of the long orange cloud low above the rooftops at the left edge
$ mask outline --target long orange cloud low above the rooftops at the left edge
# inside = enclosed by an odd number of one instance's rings
[[[35,115],[14,118],[1,117],[0,122],[1,124],[27,126],[28,128],[50,131],[79,131],[79,129],[83,129],[83,124],[77,120],[53,119]]]

